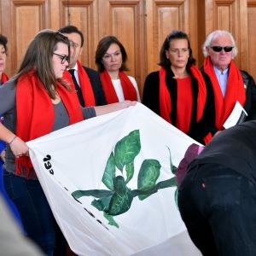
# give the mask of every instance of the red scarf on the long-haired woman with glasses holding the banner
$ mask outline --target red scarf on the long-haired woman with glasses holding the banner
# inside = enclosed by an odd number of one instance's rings
[[[57,82],[57,93],[67,108],[69,125],[82,121],[83,113],[75,90],[68,91]],[[54,106],[34,70],[21,75],[17,81],[16,109],[16,136],[24,142],[42,137],[52,131],[55,122]],[[15,166],[17,175],[26,173],[27,178],[35,176],[29,157],[16,158]]]

